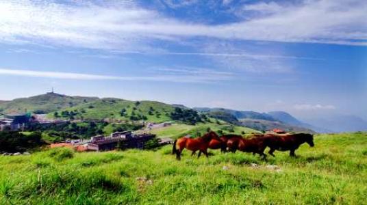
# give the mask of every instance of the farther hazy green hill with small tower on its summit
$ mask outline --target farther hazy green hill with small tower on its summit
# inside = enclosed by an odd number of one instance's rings
[[[27,111],[49,113],[97,99],[98,98],[93,97],[64,96],[61,94],[48,93],[29,98],[18,98],[0,102],[0,113],[19,113]]]

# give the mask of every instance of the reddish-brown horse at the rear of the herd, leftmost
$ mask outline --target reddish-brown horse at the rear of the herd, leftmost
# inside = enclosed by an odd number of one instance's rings
[[[218,135],[216,135],[216,133],[214,132],[206,133],[205,135],[203,135],[203,137],[197,137],[195,139],[181,137],[173,142],[172,153],[176,154],[177,160],[180,160],[181,152],[186,148],[188,150],[191,150],[192,154],[199,150],[200,152],[197,158],[200,157],[201,152],[203,152],[205,156],[208,157],[207,148],[209,147],[210,141],[212,141],[212,139],[220,141]]]

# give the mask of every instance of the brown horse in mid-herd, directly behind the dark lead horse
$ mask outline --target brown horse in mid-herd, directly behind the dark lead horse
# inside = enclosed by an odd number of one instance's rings
[[[264,154],[266,148],[264,137],[251,137],[249,139],[233,137],[227,141],[227,146],[232,152],[233,150],[234,152],[236,152],[236,150],[252,152],[253,155],[260,154],[263,159],[266,159],[266,154]]]

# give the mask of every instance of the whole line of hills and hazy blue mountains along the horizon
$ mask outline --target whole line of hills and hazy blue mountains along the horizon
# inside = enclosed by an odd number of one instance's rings
[[[185,105],[168,105],[155,101],[130,101],[119,98],[97,98],[84,96],[66,96],[53,92],[29,98],[0,100],[1,113],[47,113],[49,118],[72,118],[101,120],[114,118],[120,120],[147,120],[164,122],[171,120],[170,113]],[[223,108],[195,107],[196,111],[211,118],[255,128],[270,130],[282,128],[286,131],[331,133],[346,131],[367,131],[367,122],[353,115],[329,115],[325,118],[299,120],[284,111],[260,113],[256,111],[238,111]]]

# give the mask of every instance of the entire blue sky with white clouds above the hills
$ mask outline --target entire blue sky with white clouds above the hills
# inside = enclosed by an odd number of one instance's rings
[[[367,119],[367,2],[1,1],[0,99],[55,92]]]

